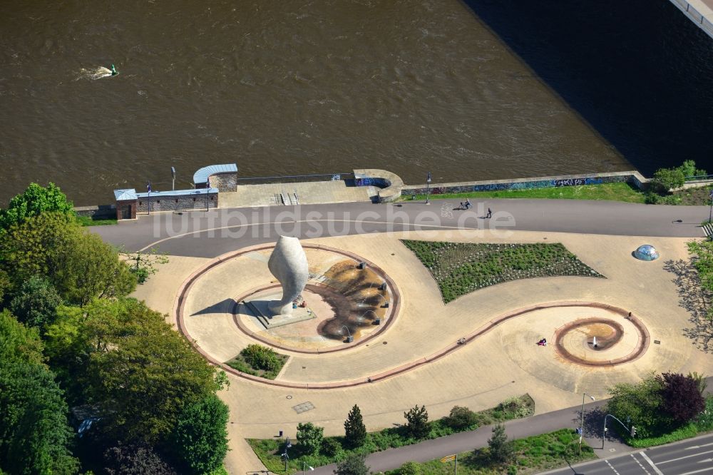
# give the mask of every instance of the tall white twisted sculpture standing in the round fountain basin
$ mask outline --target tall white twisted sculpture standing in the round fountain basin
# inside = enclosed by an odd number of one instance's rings
[[[273,315],[292,313],[292,301],[299,297],[309,278],[307,255],[297,237],[280,236],[272,250],[267,268],[282,284],[282,300],[272,300],[268,305]]]

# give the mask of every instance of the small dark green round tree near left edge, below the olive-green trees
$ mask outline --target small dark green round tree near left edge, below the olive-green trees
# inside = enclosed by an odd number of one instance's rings
[[[18,295],[10,302],[10,310],[17,320],[43,332],[54,321],[61,303],[62,298],[51,283],[33,276],[22,283]]]

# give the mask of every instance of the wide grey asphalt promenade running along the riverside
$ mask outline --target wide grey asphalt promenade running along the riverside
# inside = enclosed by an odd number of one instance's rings
[[[699,223],[709,212],[705,206],[581,200],[473,201],[471,210],[455,210],[458,204],[457,200],[431,200],[430,205],[340,203],[154,213],[93,230],[127,250],[158,245],[169,255],[215,257],[275,242],[279,234],[304,239],[401,230],[492,229],[702,237]],[[488,208],[493,210],[491,219],[484,218]]]

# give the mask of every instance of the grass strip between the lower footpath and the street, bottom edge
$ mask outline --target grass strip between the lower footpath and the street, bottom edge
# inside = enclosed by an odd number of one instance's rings
[[[500,474],[536,474],[540,471],[556,469],[567,464],[578,464],[582,461],[596,459],[593,449],[586,443],[582,444],[582,453],[578,454],[579,436],[570,429],[560,429],[527,437],[515,439],[515,457],[508,465],[493,464],[488,456],[488,448],[458,454],[458,473],[465,475],[500,475]],[[413,467],[410,474],[450,475],[453,473],[453,462],[441,463],[431,460],[423,464],[409,462]],[[414,470],[415,469],[415,470]],[[399,475],[399,469],[387,471],[389,475]]]

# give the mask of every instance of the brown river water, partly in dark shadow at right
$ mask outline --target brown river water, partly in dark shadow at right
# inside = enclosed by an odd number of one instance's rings
[[[31,181],[76,205],[166,190],[172,165],[177,188],[213,163],[407,183],[705,165],[712,43],[631,4],[6,0],[0,206]]]

